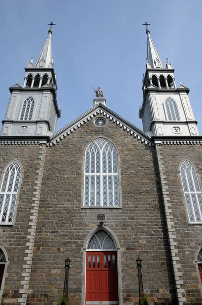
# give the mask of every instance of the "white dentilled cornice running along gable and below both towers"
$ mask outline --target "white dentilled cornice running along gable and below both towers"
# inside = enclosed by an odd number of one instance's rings
[[[125,120],[123,117],[119,116],[116,112],[112,111],[105,105],[99,104],[84,114],[79,116],[77,119],[72,121],[72,123],[66,125],[58,132],[54,133],[51,136],[1,136],[0,144],[40,144],[40,145],[48,145],[53,146],[59,143],[61,140],[66,138],[71,133],[75,132],[78,128],[85,125],[87,121],[95,118],[95,116],[105,116],[106,118],[113,121],[114,124],[123,128],[129,135],[134,136],[144,145],[162,145],[162,144],[202,144],[202,136],[182,136],[182,135],[174,135],[174,136],[152,136],[150,137],[145,132],[143,132],[138,127],[129,123],[129,121]],[[8,121],[10,122],[10,121]],[[39,121],[40,122],[40,121]],[[167,121],[166,121],[167,122]],[[22,121],[17,121],[17,123],[22,124]],[[26,123],[26,122],[25,122]]]

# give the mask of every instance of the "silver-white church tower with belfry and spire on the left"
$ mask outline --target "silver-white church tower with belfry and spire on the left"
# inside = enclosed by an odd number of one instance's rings
[[[35,67],[31,58],[25,68],[24,83],[10,87],[10,101],[3,120],[1,136],[48,136],[55,132],[60,109],[53,69],[52,27]]]

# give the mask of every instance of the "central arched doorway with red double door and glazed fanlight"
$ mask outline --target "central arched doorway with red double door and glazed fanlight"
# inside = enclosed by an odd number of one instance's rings
[[[118,304],[117,249],[104,229],[96,231],[86,251],[86,304]]]

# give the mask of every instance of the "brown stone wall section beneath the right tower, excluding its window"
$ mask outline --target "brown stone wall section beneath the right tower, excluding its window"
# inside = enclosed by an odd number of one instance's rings
[[[181,264],[183,281],[182,288],[187,302],[201,303],[201,282],[197,268],[197,254],[202,245],[202,226],[189,224],[186,201],[180,176],[180,165],[184,160],[192,163],[197,169],[201,185],[202,147],[200,144],[162,145],[161,155],[164,160],[164,170],[173,222],[176,232],[179,263]]]

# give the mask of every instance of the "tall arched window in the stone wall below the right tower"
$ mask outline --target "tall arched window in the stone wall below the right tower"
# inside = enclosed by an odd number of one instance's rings
[[[184,195],[187,203],[189,221],[202,222],[202,194],[198,176],[193,165],[184,161],[180,169]]]

